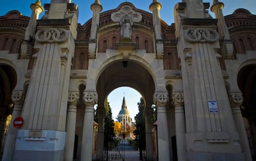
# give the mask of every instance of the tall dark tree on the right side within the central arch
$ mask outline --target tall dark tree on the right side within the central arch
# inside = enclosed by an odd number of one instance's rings
[[[143,116],[145,103],[142,97],[140,98],[140,102],[138,102],[138,108],[139,113],[135,116],[136,129],[134,130],[134,134],[136,136],[136,141],[139,144],[140,160],[142,160],[142,151],[146,149],[145,118]]]

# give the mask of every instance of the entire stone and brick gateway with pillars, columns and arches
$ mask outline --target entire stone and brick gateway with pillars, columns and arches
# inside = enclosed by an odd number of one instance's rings
[[[105,100],[121,86],[143,96],[147,160],[256,159],[256,15],[182,0],[167,25],[158,0],[89,7],[84,25],[64,0],[0,16],[2,160],[104,160]]]

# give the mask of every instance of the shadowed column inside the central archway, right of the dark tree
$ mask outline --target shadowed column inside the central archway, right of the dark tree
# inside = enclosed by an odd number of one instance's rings
[[[146,128],[146,158],[148,161],[153,160],[153,138],[152,138],[152,109],[150,107],[146,107],[144,109],[144,117],[145,117],[145,128]]]

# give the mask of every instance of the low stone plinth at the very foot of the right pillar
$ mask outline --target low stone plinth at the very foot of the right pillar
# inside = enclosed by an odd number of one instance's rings
[[[220,161],[220,160],[233,160],[233,161],[244,161],[244,154],[242,153],[201,153],[201,152],[187,152],[187,160],[197,161]]]

